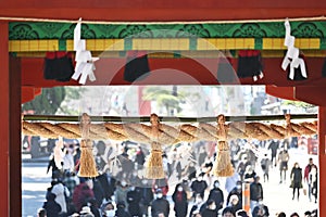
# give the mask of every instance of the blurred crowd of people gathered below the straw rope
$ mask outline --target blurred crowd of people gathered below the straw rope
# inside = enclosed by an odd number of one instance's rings
[[[170,149],[162,156],[166,177],[153,180],[145,178],[149,151],[139,144],[124,142],[114,146],[96,142],[93,154],[99,176],[88,179],[77,176],[79,144],[58,141],[48,166],[52,181],[38,216],[168,217],[173,213],[176,217],[266,217],[269,210],[264,203],[261,181],[267,182],[269,169],[277,167],[279,183],[287,180],[287,174],[290,178],[292,200],[300,200],[300,190],[305,183],[310,201],[317,202],[317,166],[309,158],[303,170],[299,163],[289,170],[287,141],[233,140],[229,146],[235,173],[222,186],[222,181],[211,175],[216,157],[214,142]],[[258,169],[263,171],[261,177]],[[249,210],[243,205],[246,184]],[[280,212],[277,216],[286,214]],[[297,213],[290,216],[299,217]],[[308,210],[302,216],[316,217],[317,214]]]

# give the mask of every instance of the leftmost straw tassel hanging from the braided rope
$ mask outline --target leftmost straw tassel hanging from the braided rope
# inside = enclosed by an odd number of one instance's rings
[[[80,165],[79,165],[79,177],[97,177],[96,162],[92,154],[92,141],[89,138],[90,117],[84,113],[80,120],[82,129],[82,141],[80,141]]]

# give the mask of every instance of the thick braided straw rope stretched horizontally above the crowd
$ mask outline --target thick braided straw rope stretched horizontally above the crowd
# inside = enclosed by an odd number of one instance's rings
[[[55,139],[59,136],[67,139],[82,138],[78,124],[70,123],[29,123],[22,122],[22,131],[26,136],[41,136]],[[226,125],[228,139],[285,139],[296,136],[312,136],[317,133],[317,122],[299,124],[287,120],[287,125],[263,123],[229,123]],[[90,124],[89,139],[111,139],[116,141],[131,140],[140,143],[151,143],[152,128],[146,124]],[[183,124],[178,126],[160,125],[159,143],[175,144],[180,141],[198,140],[216,141],[221,138],[216,124],[200,123],[198,125]]]

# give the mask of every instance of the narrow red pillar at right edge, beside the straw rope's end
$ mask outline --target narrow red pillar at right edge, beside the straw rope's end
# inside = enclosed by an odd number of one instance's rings
[[[326,106],[319,106],[318,111],[318,141],[319,141],[319,215],[326,216],[326,154],[325,154],[325,140],[326,140]],[[325,165],[325,166],[324,166]]]

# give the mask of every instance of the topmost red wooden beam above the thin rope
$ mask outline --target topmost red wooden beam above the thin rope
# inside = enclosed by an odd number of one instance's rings
[[[325,14],[325,3],[304,0],[246,1],[239,7],[236,0],[190,1],[42,1],[14,0],[0,3],[1,16],[65,18],[77,21],[83,14],[90,21],[210,21],[260,20]]]

